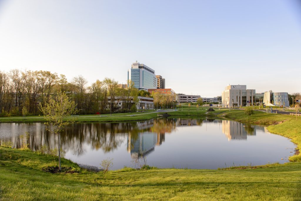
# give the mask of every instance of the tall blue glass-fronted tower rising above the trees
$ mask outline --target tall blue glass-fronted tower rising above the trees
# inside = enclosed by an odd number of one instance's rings
[[[157,78],[155,71],[150,67],[138,63],[132,64],[132,68],[128,70],[128,84],[129,80],[134,82],[135,88],[139,90],[156,89]]]

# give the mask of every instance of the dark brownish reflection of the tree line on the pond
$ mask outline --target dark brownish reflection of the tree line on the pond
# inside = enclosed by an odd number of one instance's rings
[[[73,123],[62,131],[61,143],[66,152],[71,151],[74,155],[79,156],[86,152],[86,147],[111,152],[120,147],[126,137],[129,136],[131,141],[135,142],[141,138],[141,135],[147,133],[148,137],[153,136],[149,138],[150,143],[147,142],[151,152],[156,145],[164,142],[165,133],[171,133],[177,126],[201,125],[202,122],[202,119],[158,118],[124,123]],[[10,129],[11,126],[11,124],[8,125]],[[12,147],[19,148],[22,144],[18,137],[19,132],[23,134],[23,131],[24,133],[29,131],[30,136],[27,143],[31,150],[40,150],[42,146],[46,146],[48,150],[57,148],[57,135],[45,131],[43,123],[20,123],[14,124],[14,126],[14,130],[18,130],[18,132],[7,139],[0,137],[2,144],[7,141],[8,144],[12,144]],[[128,149],[133,150],[132,146],[134,144],[130,143]],[[141,145],[137,144],[137,146]]]

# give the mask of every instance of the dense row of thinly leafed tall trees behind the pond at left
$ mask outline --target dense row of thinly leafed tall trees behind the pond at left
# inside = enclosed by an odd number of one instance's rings
[[[41,106],[59,92],[75,102],[79,114],[136,111],[138,102],[138,89],[131,82],[126,89],[111,78],[88,85],[81,75],[68,82],[63,74],[14,69],[0,71],[0,115],[42,114]]]

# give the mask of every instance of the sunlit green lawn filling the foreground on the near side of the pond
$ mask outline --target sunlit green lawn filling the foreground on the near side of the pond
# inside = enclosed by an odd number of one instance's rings
[[[0,147],[1,200],[300,200],[301,163],[52,174],[57,158]],[[63,159],[64,166],[77,166]],[[254,167],[253,167],[254,168]]]

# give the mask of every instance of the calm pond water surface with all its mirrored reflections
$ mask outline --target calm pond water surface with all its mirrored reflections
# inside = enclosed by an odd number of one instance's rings
[[[43,123],[0,123],[0,143],[20,147],[25,135],[30,149],[57,147],[57,136]],[[135,159],[159,168],[217,169],[233,165],[284,163],[294,154],[290,139],[264,126],[219,119],[160,118],[125,123],[74,123],[61,135],[65,158],[112,169],[134,167]],[[283,158],[283,160],[281,159]],[[137,166],[136,166],[137,168]]]

